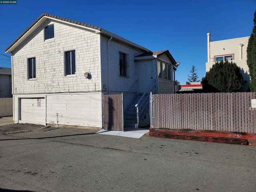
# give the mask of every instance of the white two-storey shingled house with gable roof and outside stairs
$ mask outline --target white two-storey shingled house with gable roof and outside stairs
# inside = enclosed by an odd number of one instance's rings
[[[102,28],[43,13],[5,50],[15,123],[102,128],[102,93],[124,108],[155,84],[173,93],[176,61]],[[134,107],[135,110],[135,107]],[[132,125],[127,125],[132,126]]]

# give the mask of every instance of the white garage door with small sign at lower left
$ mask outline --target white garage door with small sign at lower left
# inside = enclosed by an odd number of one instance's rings
[[[45,99],[21,98],[19,122],[45,125]]]

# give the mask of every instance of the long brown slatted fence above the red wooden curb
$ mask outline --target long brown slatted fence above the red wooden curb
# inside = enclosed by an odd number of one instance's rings
[[[256,133],[256,93],[154,94],[157,128]]]

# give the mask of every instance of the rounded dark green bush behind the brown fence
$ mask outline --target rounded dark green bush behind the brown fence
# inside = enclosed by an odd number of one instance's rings
[[[243,85],[236,63],[216,62],[203,78],[204,92],[238,92]]]

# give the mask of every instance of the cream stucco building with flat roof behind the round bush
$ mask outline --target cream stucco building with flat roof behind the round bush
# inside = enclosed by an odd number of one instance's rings
[[[232,61],[240,67],[240,73],[246,83],[243,91],[248,90],[250,84],[249,68],[247,65],[247,46],[249,37],[241,37],[210,42],[210,33],[207,34],[208,61],[205,64],[206,72],[218,61]]]

